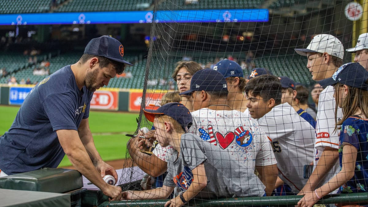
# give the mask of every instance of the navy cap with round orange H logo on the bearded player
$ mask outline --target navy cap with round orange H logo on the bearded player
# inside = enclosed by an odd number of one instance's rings
[[[84,49],[84,54],[102,56],[120,63],[125,63],[131,66],[133,65],[123,60],[123,45],[121,45],[117,39],[107,35],[91,39]]]

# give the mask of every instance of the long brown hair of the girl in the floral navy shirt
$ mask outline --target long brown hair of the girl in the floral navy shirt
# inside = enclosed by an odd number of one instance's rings
[[[360,109],[362,114],[368,117],[368,91],[360,88],[348,87],[348,93],[346,99],[342,103],[343,109],[343,118],[341,120],[337,120],[337,106],[339,105],[339,95],[342,93],[340,91],[343,84],[337,83],[334,85],[335,89],[335,98],[336,98],[336,106],[335,106],[335,130],[338,125],[342,125],[342,123],[349,117],[353,116],[354,113]]]

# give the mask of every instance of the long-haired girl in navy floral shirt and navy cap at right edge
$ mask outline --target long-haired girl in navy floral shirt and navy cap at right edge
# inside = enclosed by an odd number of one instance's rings
[[[342,126],[341,129],[336,129],[341,130],[339,138],[341,171],[322,187],[306,193],[298,202],[300,207],[313,206],[319,199],[337,188],[338,193],[368,191],[368,72],[358,63],[347,63],[331,78],[319,81],[319,84],[334,86],[336,105],[343,109],[343,118],[341,120],[336,118],[336,126]],[[358,205],[367,204],[336,204],[336,206]]]

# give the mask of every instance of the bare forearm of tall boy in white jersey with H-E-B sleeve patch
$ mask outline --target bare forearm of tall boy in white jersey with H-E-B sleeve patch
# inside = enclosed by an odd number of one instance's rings
[[[306,192],[315,190],[319,180],[325,178],[327,173],[336,164],[337,159],[339,159],[339,150],[332,147],[325,147],[317,162],[316,168],[309,176],[307,183],[298,195],[303,195]]]

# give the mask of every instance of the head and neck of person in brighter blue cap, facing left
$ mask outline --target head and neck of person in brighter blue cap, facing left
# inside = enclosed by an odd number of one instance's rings
[[[240,65],[232,60],[223,59],[216,63],[213,69],[221,73],[226,79],[227,90],[229,91],[227,104],[231,109],[245,113],[247,109],[247,102],[243,94],[245,80]]]

